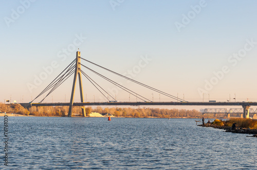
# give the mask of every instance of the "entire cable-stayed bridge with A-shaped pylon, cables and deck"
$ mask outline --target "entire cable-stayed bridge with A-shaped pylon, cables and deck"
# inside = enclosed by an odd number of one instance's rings
[[[154,92],[158,92],[159,94],[162,94],[164,96],[167,96],[169,98],[171,98],[171,100],[177,101],[177,102],[153,102],[152,100],[140,95],[139,93],[125,87],[122,86],[122,84],[117,83],[116,81],[104,76],[103,74],[100,74],[96,71],[94,71],[93,69],[90,69],[89,67],[83,65],[81,63],[81,60],[84,60],[86,62],[89,62],[91,64],[93,64],[94,66],[97,66],[101,69],[104,69],[105,71],[115,74],[117,76],[120,76],[124,79],[127,79],[129,81],[132,81],[136,84],[138,84],[139,86],[149,89],[151,91]],[[88,71],[98,75],[99,77],[105,79],[106,81],[108,81],[109,83],[114,84],[115,86],[117,86],[119,89],[122,89],[123,91],[129,93],[130,95],[133,95],[135,97],[137,97],[139,100],[139,102],[118,102],[114,96],[110,95],[109,93],[107,93],[106,90],[104,90],[104,88],[102,88],[96,81],[94,81],[91,77],[89,77],[88,74],[86,74],[86,72],[82,71],[81,67],[83,67],[84,69],[87,69]],[[70,97],[70,102],[68,103],[42,103],[44,101],[44,99],[49,96],[54,90],[56,90],[65,80],[67,80],[71,75],[74,75],[74,81],[72,83],[72,91],[71,91],[71,97]],[[86,79],[93,84],[93,86],[104,96],[104,98],[106,98],[106,102],[85,102],[84,101],[84,95],[83,95],[83,86],[82,86],[82,76],[85,76]],[[77,77],[79,78],[79,88],[80,88],[80,99],[81,102],[74,102],[74,95],[75,95],[75,89],[76,89],[76,83],[77,83]],[[35,99],[38,99],[40,96],[42,96],[43,94],[46,94],[43,99],[36,103],[33,102]],[[109,100],[108,96],[110,96],[112,99]],[[82,58],[80,56],[80,51],[77,51],[77,55],[76,55],[76,59],[73,60],[38,96],[36,96],[31,102],[29,103],[20,103],[21,105],[23,105],[23,107],[25,108],[29,108],[31,106],[69,106],[69,112],[68,112],[68,116],[71,117],[72,115],[72,107],[73,106],[81,106],[82,107],[82,115],[85,116],[85,106],[87,105],[237,105],[237,106],[242,106],[243,107],[243,111],[244,111],[244,118],[249,118],[249,108],[250,105],[257,105],[257,102],[188,102],[184,99],[178,98],[174,95],[168,94],[166,92],[160,91],[156,88],[153,88],[151,86],[148,86],[144,83],[141,83],[139,81],[136,81],[132,78],[128,78],[124,75],[121,75],[117,72],[114,72],[112,70],[109,70],[107,68],[104,68],[100,65],[97,65],[94,62],[91,62],[89,60],[86,60],[84,58]]]

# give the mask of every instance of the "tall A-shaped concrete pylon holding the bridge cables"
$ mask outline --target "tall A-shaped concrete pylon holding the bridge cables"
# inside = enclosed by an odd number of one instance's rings
[[[74,74],[74,80],[73,80],[72,91],[71,91],[70,102],[69,102],[68,117],[72,116],[72,107],[73,107],[73,103],[74,103],[74,93],[75,93],[75,89],[76,89],[77,76],[79,76],[80,100],[82,103],[84,102],[82,76],[81,76],[80,66],[81,66],[80,65],[80,51],[77,51],[75,74]],[[83,105],[81,109],[82,109],[82,116],[85,117],[86,116],[85,106]]]

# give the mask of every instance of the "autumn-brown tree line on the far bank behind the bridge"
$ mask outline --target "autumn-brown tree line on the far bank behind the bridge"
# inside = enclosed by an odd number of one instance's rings
[[[20,104],[3,104],[0,103],[0,112],[6,113],[20,113],[23,115],[34,116],[67,116],[68,106],[56,107],[31,107],[28,110],[23,108]],[[172,117],[200,117],[197,110],[186,109],[159,109],[159,108],[102,108],[102,107],[86,107],[86,116],[91,112],[100,114],[110,113],[116,117],[158,117],[158,118],[172,118]],[[82,116],[81,107],[73,107],[72,116]]]

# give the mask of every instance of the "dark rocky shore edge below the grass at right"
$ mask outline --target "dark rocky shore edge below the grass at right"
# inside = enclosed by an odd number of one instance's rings
[[[216,124],[211,124],[211,123],[205,123],[204,125],[199,124],[198,126],[223,129],[225,130],[225,132],[232,132],[232,133],[238,133],[238,134],[251,134],[253,135],[251,137],[257,137],[257,129],[235,128],[234,130],[232,130],[232,128],[229,126],[218,126]]]

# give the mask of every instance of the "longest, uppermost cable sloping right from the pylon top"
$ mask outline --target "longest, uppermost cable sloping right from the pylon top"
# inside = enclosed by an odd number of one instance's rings
[[[82,57],[81,57],[81,59],[83,59],[83,60],[85,60],[85,61],[87,61],[87,62],[90,62],[90,63],[92,63],[93,65],[96,65],[96,66],[98,66],[98,67],[100,67],[100,68],[102,68],[102,69],[104,69],[104,70],[107,70],[107,71],[109,71],[109,72],[111,72],[111,73],[114,73],[114,74],[116,74],[116,75],[118,75],[118,76],[120,76],[120,77],[123,77],[123,78],[125,78],[125,79],[130,80],[130,81],[133,81],[133,82],[135,82],[135,83],[137,83],[137,84],[139,84],[139,85],[141,85],[141,86],[143,86],[143,87],[145,87],[145,88],[148,88],[148,89],[151,89],[151,90],[153,90],[153,91],[155,91],[155,92],[161,93],[162,95],[168,96],[168,97],[173,98],[173,99],[175,99],[175,100],[178,100],[178,99],[179,99],[179,100],[181,100],[181,101],[186,101],[186,100],[183,100],[183,99],[178,98],[178,97],[176,97],[176,96],[173,96],[173,95],[171,95],[171,94],[162,92],[162,91],[160,91],[160,90],[158,90],[158,89],[152,88],[152,87],[150,87],[150,86],[148,86],[148,85],[146,85],[146,84],[144,84],[144,83],[141,83],[141,82],[139,82],[139,81],[136,81],[136,80],[134,80],[134,79],[128,78],[128,77],[126,77],[126,76],[123,76],[123,75],[121,75],[121,74],[119,74],[119,73],[116,73],[116,72],[114,72],[114,71],[112,71],[112,70],[109,70],[109,69],[107,69],[107,68],[104,68],[104,67],[102,67],[102,66],[100,66],[100,65],[97,65],[96,63],[91,62],[91,61],[89,61],[89,60],[86,60],[86,59],[84,59],[84,58],[82,58]]]

